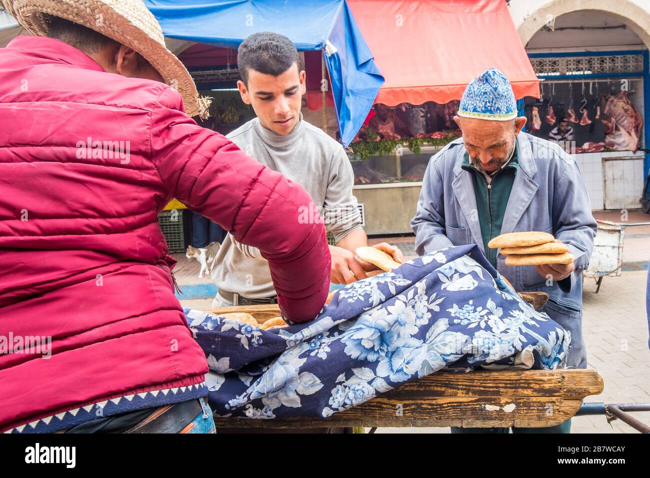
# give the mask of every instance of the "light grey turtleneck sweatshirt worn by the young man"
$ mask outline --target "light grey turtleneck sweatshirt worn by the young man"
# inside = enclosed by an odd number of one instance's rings
[[[277,135],[255,118],[227,138],[263,165],[302,185],[320,208],[325,228],[337,242],[361,229],[361,215],[352,194],[354,173],[343,146],[303,120],[302,113],[288,135]],[[315,215],[312,211],[305,214]],[[291,220],[287,218],[287,231],[291,230]],[[259,250],[237,243],[230,234],[217,253],[211,277],[219,289],[249,299],[276,294],[268,263]]]

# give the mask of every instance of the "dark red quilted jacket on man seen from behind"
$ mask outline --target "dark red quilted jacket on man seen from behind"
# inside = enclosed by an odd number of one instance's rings
[[[0,197],[0,336],[51,337],[49,358],[0,353],[0,432],[203,384],[157,224],[172,197],[263,252],[287,318],[312,319],[328,293],[300,185],[199,127],[174,89],[59,40],[0,49]]]

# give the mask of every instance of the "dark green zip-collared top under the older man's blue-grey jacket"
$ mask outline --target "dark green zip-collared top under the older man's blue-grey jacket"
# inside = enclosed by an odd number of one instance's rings
[[[461,168],[470,171],[474,181],[474,194],[476,196],[476,208],[478,209],[478,221],[481,225],[481,235],[483,239],[483,247],[486,251],[486,257],[489,262],[497,268],[497,249],[490,249],[487,243],[493,237],[497,237],[501,233],[501,226],[503,224],[503,216],[506,213],[508,206],[508,199],[510,198],[510,191],[515,181],[515,174],[519,168],[519,146],[515,142],[515,152],[508,162],[508,165],[503,169],[495,172],[491,176],[491,183],[487,183],[487,179],[483,172],[474,168],[469,164],[469,155],[465,152]]]

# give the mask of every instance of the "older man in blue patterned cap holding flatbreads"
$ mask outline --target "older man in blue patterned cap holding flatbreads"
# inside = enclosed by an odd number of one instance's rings
[[[524,116],[510,82],[496,68],[475,78],[454,120],[463,137],[434,155],[422,181],[411,221],[417,253],[476,243],[517,291],[544,291],[543,312],[571,333],[567,367],[586,368],[582,340],[582,271],[596,233],[580,170],[557,144],[521,131]],[[551,233],[573,254],[573,263],[507,266],[493,237],[508,232]],[[549,411],[552,413],[552,410]],[[571,419],[548,428],[512,427],[513,433],[568,433]],[[508,433],[510,429],[452,432]]]

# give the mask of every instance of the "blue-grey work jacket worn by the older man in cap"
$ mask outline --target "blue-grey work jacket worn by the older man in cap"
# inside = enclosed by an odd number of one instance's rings
[[[501,233],[543,231],[569,247],[575,271],[559,282],[542,277],[534,266],[497,270],[517,291],[544,291],[544,312],[571,332],[568,365],[586,368],[582,343],[582,271],[589,265],[597,226],[580,170],[558,144],[527,133],[517,135],[519,168],[512,185]],[[450,245],[475,243],[484,251],[471,172],[463,170],[463,139],[452,141],[431,157],[422,181],[417,213],[411,221],[419,255]]]

